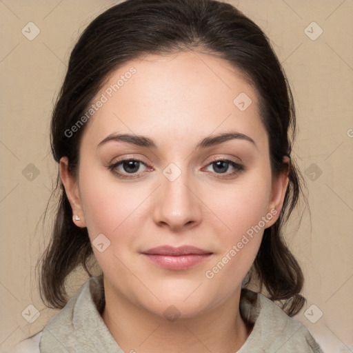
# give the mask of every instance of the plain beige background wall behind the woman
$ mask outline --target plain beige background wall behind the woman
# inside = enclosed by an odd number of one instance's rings
[[[293,221],[287,235],[306,279],[307,305],[296,319],[325,352],[353,352],[353,1],[231,2],[270,37],[296,100],[295,152],[310,203],[299,230]],[[50,112],[79,33],[114,3],[0,0],[0,350],[41,330],[54,314],[39,299],[34,271],[57,175]],[[21,33],[29,22],[40,30],[32,41]],[[28,305],[41,313],[34,323],[24,319],[33,312]]]

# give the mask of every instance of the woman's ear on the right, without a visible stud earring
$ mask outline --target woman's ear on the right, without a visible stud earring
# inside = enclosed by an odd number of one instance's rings
[[[287,191],[289,181],[290,157],[283,157],[283,163],[285,164],[283,166],[283,171],[275,177],[274,181],[272,181],[272,194],[268,212],[273,215],[273,218],[266,223],[265,228],[269,228],[276,223],[283,207],[285,192]]]

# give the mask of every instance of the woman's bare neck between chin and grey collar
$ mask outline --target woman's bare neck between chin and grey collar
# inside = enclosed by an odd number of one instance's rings
[[[134,305],[105,285],[102,318],[124,352],[234,353],[252,330],[241,318],[239,300],[240,288],[213,310],[172,322]]]

